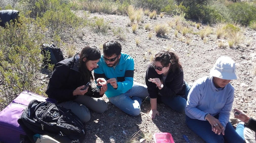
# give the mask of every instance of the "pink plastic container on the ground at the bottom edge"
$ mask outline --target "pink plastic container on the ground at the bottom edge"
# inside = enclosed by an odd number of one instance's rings
[[[155,133],[153,137],[155,143],[174,143],[172,134],[170,133]]]

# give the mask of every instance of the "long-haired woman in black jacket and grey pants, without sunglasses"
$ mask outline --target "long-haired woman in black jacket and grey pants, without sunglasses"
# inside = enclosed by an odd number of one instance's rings
[[[100,57],[100,50],[91,45],[84,47],[73,58],[60,61],[54,67],[46,90],[49,98],[71,109],[83,122],[91,118],[89,109],[102,113],[107,108],[100,98],[107,90],[107,85],[103,84],[100,89],[90,86],[92,70],[97,68]]]

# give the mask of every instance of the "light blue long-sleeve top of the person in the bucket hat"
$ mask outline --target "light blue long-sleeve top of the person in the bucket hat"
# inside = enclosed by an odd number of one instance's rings
[[[215,87],[212,76],[202,77],[190,89],[185,113],[191,119],[203,121],[207,114],[219,114],[219,121],[226,128],[233,101],[234,87],[230,83],[220,90]]]

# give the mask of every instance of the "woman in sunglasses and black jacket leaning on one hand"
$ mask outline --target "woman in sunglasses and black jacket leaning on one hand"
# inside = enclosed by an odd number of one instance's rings
[[[190,86],[183,80],[183,68],[174,52],[160,51],[148,65],[146,72],[147,91],[150,96],[150,117],[154,119],[157,102],[162,102],[170,108],[184,111]]]

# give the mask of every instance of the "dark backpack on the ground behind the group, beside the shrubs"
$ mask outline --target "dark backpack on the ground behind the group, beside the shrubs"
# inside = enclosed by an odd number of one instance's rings
[[[60,48],[56,47],[54,44],[43,44],[41,49],[41,54],[44,55],[44,63],[57,64],[58,62],[64,60],[64,56]],[[48,60],[48,56],[50,56]]]

